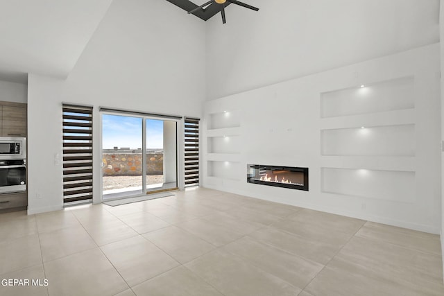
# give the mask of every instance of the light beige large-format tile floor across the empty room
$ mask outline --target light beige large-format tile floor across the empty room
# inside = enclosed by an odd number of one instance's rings
[[[444,295],[436,235],[210,189],[1,214],[0,279],[30,280],[0,295]]]

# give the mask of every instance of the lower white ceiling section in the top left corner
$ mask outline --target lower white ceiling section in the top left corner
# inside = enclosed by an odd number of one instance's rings
[[[1,0],[0,80],[66,78],[112,0]]]

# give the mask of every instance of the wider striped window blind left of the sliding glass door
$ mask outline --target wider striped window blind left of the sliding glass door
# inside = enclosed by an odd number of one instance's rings
[[[62,106],[63,202],[92,200],[92,107]]]

